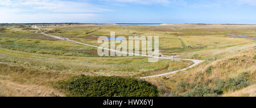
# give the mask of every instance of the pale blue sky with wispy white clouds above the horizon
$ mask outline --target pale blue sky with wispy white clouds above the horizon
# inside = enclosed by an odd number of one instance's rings
[[[0,0],[0,23],[256,24],[256,0]]]

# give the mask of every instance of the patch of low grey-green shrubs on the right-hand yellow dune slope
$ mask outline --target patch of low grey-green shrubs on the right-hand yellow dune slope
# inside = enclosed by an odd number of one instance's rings
[[[205,96],[218,96],[222,94],[224,91],[228,90],[237,90],[241,89],[244,87],[247,87],[250,85],[250,81],[246,79],[247,72],[244,72],[241,77],[237,78],[229,78],[226,81],[220,80],[220,79],[215,79],[213,81],[214,86],[209,87],[208,82],[203,82],[203,83],[192,83],[188,84],[184,81],[181,81],[179,84],[176,86],[176,91],[179,93],[185,92],[183,96],[186,97],[205,97]],[[187,90],[189,88],[189,90]]]

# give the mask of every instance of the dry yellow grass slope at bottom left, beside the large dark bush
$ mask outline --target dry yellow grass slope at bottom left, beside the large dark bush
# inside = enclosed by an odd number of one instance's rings
[[[0,96],[65,96],[51,83],[76,75],[4,63],[0,63],[0,68]]]

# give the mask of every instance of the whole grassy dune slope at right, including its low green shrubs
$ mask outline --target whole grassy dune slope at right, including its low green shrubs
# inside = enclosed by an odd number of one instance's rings
[[[255,84],[256,47],[247,47],[238,54],[234,51],[233,55],[201,63],[177,74],[146,80],[160,87],[163,96],[221,96]],[[208,92],[204,93],[205,90]]]

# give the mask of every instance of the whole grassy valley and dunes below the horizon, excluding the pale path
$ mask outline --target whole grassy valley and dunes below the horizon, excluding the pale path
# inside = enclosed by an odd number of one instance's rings
[[[158,36],[161,57],[204,62],[140,79],[193,62],[100,57],[96,47],[41,32],[96,46],[98,37],[110,32]],[[255,96],[255,33],[256,25],[230,24],[1,24],[0,96]]]

